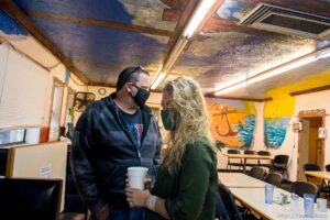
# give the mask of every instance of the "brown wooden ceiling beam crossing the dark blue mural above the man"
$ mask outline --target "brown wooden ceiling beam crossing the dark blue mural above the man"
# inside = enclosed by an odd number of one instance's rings
[[[118,23],[118,22],[88,19],[88,18],[77,18],[77,16],[70,16],[70,15],[58,14],[58,13],[42,12],[37,10],[24,10],[24,12],[29,16],[33,16],[37,19],[47,19],[53,21],[76,23],[81,25],[103,26],[109,29],[118,29],[118,30],[132,31],[138,33],[153,34],[160,36],[167,36],[167,37],[172,36],[173,34],[172,31],[154,29],[150,26],[135,25],[135,24],[125,24],[125,23]]]

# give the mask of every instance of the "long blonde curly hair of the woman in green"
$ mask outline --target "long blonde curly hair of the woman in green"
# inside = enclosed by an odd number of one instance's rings
[[[198,82],[190,77],[178,77],[167,82],[163,92],[167,92],[169,97],[167,108],[177,112],[175,130],[169,133],[163,162],[169,174],[175,174],[180,167],[187,144],[194,143],[196,138],[205,138],[215,152],[217,148],[211,135],[206,101]]]

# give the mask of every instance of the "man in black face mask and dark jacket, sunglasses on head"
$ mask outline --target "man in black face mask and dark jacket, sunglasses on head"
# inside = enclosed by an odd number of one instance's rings
[[[143,219],[143,209],[130,209],[124,188],[128,167],[147,167],[154,178],[161,160],[160,130],[145,106],[148,87],[146,70],[125,68],[117,91],[91,103],[77,123],[70,165],[91,219]]]

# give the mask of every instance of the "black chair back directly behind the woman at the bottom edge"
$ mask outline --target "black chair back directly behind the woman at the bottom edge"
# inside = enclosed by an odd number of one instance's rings
[[[231,195],[229,188],[227,186],[224,186],[223,184],[219,183],[218,191],[219,191],[220,198],[223,202],[223,206],[226,207],[229,219],[243,220],[242,215],[239,210],[239,207],[235,204],[235,200],[234,200],[233,196]]]

